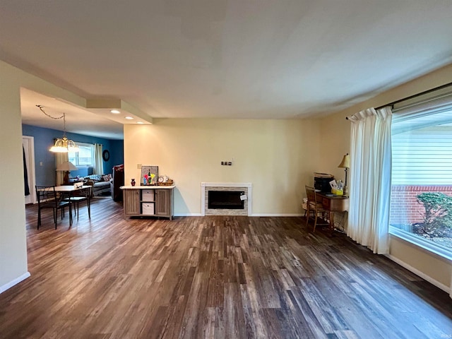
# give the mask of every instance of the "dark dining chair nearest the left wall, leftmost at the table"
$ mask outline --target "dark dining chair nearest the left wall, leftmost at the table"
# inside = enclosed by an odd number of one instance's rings
[[[55,186],[35,186],[37,196],[37,229],[41,225],[41,210],[52,208],[54,213],[55,230],[57,229],[57,212],[61,210],[61,220],[64,218],[64,208],[69,207],[69,224],[72,225],[72,210],[69,201],[62,201],[55,191]]]

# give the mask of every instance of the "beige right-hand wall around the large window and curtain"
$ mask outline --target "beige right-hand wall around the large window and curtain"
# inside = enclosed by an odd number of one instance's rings
[[[324,168],[333,168],[340,162],[335,154],[350,152],[350,121],[345,117],[355,114],[362,109],[369,107],[380,107],[396,100],[401,100],[411,95],[422,93],[425,90],[439,87],[450,83],[452,79],[452,65],[434,71],[400,85],[393,90],[388,90],[381,95],[359,103],[342,112],[325,117],[321,121],[321,135],[328,135],[328,138],[321,138],[321,154],[326,155],[321,158],[320,164]],[[338,133],[338,130],[341,132]],[[334,160],[333,160],[334,158]],[[333,174],[339,176],[343,170],[335,169]],[[437,256],[417,247],[410,246],[396,237],[391,237],[390,255],[403,266],[414,269],[416,273],[421,274],[441,287],[451,286],[451,263],[444,261]],[[439,284],[438,284],[439,283]]]

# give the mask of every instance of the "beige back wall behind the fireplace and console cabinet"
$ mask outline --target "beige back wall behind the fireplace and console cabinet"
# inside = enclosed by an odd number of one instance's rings
[[[221,161],[231,161],[222,166]],[[155,119],[124,126],[125,182],[158,165],[177,185],[175,215],[201,213],[201,182],[251,182],[253,215],[302,213],[319,162],[319,120]]]

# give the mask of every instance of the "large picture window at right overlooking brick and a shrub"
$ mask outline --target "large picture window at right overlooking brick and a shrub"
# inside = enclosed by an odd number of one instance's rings
[[[452,258],[452,95],[394,109],[390,232]]]

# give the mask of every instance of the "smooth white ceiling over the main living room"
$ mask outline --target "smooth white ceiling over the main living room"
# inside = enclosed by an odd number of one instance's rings
[[[311,117],[450,64],[451,18],[450,0],[0,0],[0,59],[145,117]]]

